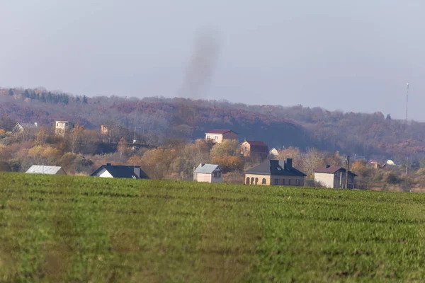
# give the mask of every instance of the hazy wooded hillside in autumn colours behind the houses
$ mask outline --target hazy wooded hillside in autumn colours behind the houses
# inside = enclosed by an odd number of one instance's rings
[[[309,147],[368,158],[425,155],[425,123],[392,120],[373,114],[328,111],[302,105],[245,105],[187,98],[86,98],[45,89],[2,88],[0,113],[18,122],[38,122],[52,127],[55,120],[69,120],[87,128],[115,125],[119,133],[148,144],[169,139],[203,138],[212,128],[233,129],[239,139],[265,141],[271,147]]]

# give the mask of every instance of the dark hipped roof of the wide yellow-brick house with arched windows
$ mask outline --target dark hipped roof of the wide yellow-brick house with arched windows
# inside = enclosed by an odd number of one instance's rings
[[[292,161],[291,161],[292,162]],[[305,173],[293,168],[284,160],[266,160],[263,163],[247,170],[245,174],[257,175],[284,175],[305,177]]]

